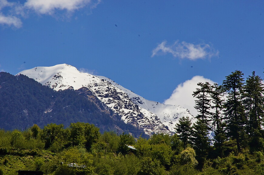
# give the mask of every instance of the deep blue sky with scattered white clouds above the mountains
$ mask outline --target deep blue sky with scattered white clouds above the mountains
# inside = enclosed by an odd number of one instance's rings
[[[263,78],[263,31],[264,1],[0,0],[0,71],[66,63],[164,102],[235,70]]]

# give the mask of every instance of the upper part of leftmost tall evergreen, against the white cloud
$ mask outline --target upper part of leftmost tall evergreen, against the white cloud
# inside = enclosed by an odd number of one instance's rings
[[[211,116],[211,98],[210,93],[212,92],[212,85],[208,82],[198,83],[200,88],[196,88],[196,91],[193,92],[193,97],[196,97],[195,100],[195,109],[199,112],[196,116],[197,119],[201,119],[209,127],[209,121]]]

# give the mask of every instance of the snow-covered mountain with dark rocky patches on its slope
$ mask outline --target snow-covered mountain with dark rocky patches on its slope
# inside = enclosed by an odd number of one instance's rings
[[[188,109],[148,101],[109,78],[80,72],[68,64],[36,67],[18,74],[33,78],[56,91],[68,88],[78,90],[86,87],[103,104],[122,116],[125,123],[143,128],[149,135],[152,133],[171,134],[180,117],[192,118]]]

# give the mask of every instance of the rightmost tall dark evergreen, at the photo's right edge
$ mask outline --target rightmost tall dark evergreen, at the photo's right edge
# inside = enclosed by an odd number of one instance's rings
[[[244,105],[247,117],[247,131],[251,151],[262,151],[264,148],[263,130],[261,128],[264,116],[264,88],[262,79],[252,72],[244,86]]]

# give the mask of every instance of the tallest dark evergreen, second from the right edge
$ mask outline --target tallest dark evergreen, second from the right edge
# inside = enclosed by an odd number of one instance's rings
[[[223,81],[223,87],[228,94],[225,103],[225,121],[228,136],[236,139],[237,149],[241,151],[241,142],[245,139],[245,114],[242,105],[244,74],[241,71],[232,72]]]

